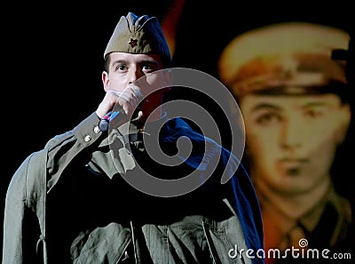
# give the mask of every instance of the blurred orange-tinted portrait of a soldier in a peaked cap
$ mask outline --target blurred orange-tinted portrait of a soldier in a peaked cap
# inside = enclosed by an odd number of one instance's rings
[[[265,252],[329,249],[330,256],[355,248],[351,202],[331,175],[351,122],[345,63],[332,60],[332,51],[346,50],[349,41],[339,28],[285,22],[236,36],[218,61],[245,123]]]

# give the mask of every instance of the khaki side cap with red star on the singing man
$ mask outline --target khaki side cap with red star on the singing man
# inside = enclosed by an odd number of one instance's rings
[[[106,46],[104,59],[111,52],[158,54],[166,67],[171,62],[169,45],[157,18],[138,17],[132,12],[118,21]]]

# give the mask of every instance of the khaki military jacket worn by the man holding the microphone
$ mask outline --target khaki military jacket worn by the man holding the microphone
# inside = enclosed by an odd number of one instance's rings
[[[182,170],[203,175],[212,159],[217,169],[192,194],[146,196],[119,177],[135,168],[129,137],[108,155],[112,141],[98,123],[93,113],[20,164],[6,194],[3,264],[264,262],[256,257],[263,228],[254,188],[225,148],[171,121],[162,139],[168,150],[185,135],[207,153],[193,153]],[[233,175],[222,186],[225,169]]]

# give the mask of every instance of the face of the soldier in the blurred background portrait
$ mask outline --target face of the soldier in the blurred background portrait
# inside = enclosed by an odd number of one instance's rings
[[[335,94],[256,95],[241,100],[250,175],[273,191],[306,192],[325,180],[350,108]]]

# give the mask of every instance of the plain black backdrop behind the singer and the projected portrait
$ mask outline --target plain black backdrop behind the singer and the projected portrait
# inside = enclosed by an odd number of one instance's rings
[[[163,20],[170,2],[12,2],[2,7],[1,219],[6,188],[26,156],[52,136],[72,129],[99,105],[104,96],[103,52],[119,18],[130,11]],[[185,1],[173,66],[215,76],[219,52],[233,36],[269,23],[304,20],[349,31],[355,24],[355,13],[345,1],[208,2]],[[337,168],[343,172],[338,184],[349,195],[349,184],[343,182],[353,174],[354,145],[350,137],[342,156],[347,165]]]

